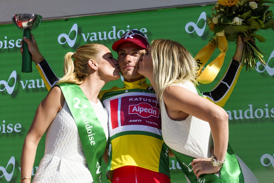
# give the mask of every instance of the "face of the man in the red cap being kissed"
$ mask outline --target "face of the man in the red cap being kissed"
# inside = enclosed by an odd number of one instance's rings
[[[132,42],[121,44],[118,50],[118,64],[121,75],[126,82],[134,82],[144,78],[138,71],[138,64],[145,49]]]

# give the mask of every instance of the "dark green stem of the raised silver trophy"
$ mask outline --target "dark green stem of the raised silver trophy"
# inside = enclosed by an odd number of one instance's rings
[[[30,30],[24,30],[23,36],[30,39]],[[22,72],[32,72],[31,67],[31,54],[28,48],[28,44],[23,40],[23,54],[22,54]]]

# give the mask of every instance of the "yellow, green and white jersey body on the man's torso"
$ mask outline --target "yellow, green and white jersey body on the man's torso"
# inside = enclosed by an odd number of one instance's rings
[[[107,176],[123,166],[138,166],[168,175],[168,147],[163,141],[159,103],[146,79],[101,92],[109,112]]]

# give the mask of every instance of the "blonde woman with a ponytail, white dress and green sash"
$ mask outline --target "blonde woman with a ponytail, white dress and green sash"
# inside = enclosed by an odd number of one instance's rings
[[[21,183],[31,181],[36,148],[45,131],[45,155],[33,183],[91,183],[102,178],[100,162],[108,139],[108,114],[97,96],[105,83],[120,78],[117,60],[107,47],[94,43],[67,53],[64,65],[65,75],[38,106],[25,138]]]

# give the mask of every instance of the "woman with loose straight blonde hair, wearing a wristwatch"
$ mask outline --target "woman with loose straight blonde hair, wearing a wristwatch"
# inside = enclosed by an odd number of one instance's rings
[[[150,80],[161,105],[164,142],[189,182],[256,183],[228,145],[228,114],[200,96],[195,71],[185,47],[165,39],[154,40],[139,62],[138,73]]]

